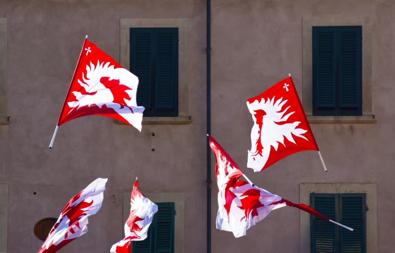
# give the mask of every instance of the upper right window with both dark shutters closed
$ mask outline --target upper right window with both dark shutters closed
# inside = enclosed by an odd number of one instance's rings
[[[362,115],[362,26],[312,27],[313,115]]]

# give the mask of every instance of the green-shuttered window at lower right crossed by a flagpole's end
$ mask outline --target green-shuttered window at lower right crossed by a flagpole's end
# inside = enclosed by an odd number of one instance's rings
[[[310,206],[354,229],[351,232],[310,215],[311,253],[366,253],[366,194],[312,193]]]

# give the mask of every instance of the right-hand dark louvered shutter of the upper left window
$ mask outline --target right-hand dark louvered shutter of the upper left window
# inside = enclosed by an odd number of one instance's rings
[[[155,33],[155,107],[176,107],[178,79],[178,28],[163,28]]]

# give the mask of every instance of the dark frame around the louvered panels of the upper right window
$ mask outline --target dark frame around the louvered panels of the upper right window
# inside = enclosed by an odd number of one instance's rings
[[[312,115],[313,116],[361,116],[362,115],[362,93],[363,93],[363,87],[362,87],[362,77],[363,77],[363,71],[362,71],[362,60],[363,60],[363,55],[362,55],[362,25],[347,25],[347,26],[312,26],[312,34],[311,34],[311,48],[312,48],[312,59],[311,59],[311,65],[312,65]],[[349,30],[349,29],[355,29],[355,31],[359,34],[359,38],[357,38],[357,45],[356,45],[356,82],[357,82],[357,90],[356,90],[356,96],[357,96],[357,102],[358,106],[357,109],[341,109],[341,74],[340,74],[340,66],[341,66],[341,37],[340,34],[342,30]],[[335,106],[333,110],[324,110],[318,109],[318,104],[317,104],[317,43],[318,41],[316,33],[319,32],[319,30],[332,30],[334,34],[334,45],[333,45],[333,60],[334,60],[334,97],[335,97]],[[315,33],[314,33],[315,32]]]

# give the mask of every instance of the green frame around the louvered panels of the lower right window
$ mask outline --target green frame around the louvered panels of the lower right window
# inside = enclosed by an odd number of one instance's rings
[[[342,223],[342,216],[343,216],[343,211],[342,211],[342,198],[347,198],[347,197],[361,197],[362,198],[362,214],[363,214],[363,221],[364,221],[364,234],[363,234],[363,244],[364,244],[364,252],[367,252],[367,226],[366,226],[366,193],[310,193],[310,206],[314,208],[314,199],[316,197],[333,197],[335,198],[335,216],[336,216],[336,222]],[[310,253],[314,252],[314,240],[313,240],[313,215],[310,214]],[[340,226],[337,226],[337,238],[336,238],[336,251],[337,253],[342,252],[342,245],[343,241],[341,240],[341,233],[343,229]]]

